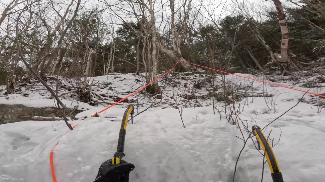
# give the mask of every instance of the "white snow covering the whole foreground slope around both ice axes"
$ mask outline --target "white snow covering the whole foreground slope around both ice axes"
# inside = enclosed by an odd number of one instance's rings
[[[186,87],[181,87],[183,90],[194,84],[188,80],[180,82],[188,83]],[[215,85],[220,83],[220,79],[216,78]],[[249,130],[253,125],[264,128],[296,105],[304,95],[303,92],[263,85],[232,75],[226,76],[226,83],[240,88],[242,94],[254,97],[244,97],[235,105],[226,107],[224,103],[216,102],[216,109],[220,112],[215,110],[215,114],[212,106],[178,106],[186,128],[179,110],[165,106],[149,108],[134,119],[133,125],[128,124],[123,160],[136,166],[130,174],[130,182],[231,182],[237,157],[244,145],[241,139],[248,136],[244,125]],[[303,83],[295,84],[293,81],[280,84],[318,94],[325,92],[322,87],[306,88]],[[177,90],[178,86],[167,87],[162,100],[175,100],[173,89]],[[201,89],[200,93],[203,92],[208,90]],[[258,95],[273,97],[256,97]],[[302,102],[263,130],[270,143],[271,140],[274,144],[279,141],[273,150],[285,182],[320,182],[325,179],[325,111],[316,106],[322,100],[305,94]],[[210,103],[210,100],[206,102]],[[188,104],[195,106],[194,101]],[[123,115],[125,108],[121,107],[106,110],[99,114],[100,118],[72,121],[72,125],[79,125],[64,136],[68,128],[63,121],[23,121],[0,125],[0,182],[52,181],[49,153],[57,142],[54,166],[58,182],[94,181],[99,166],[112,158],[116,150],[122,118],[112,117]],[[139,106],[136,113],[145,108],[145,105]],[[102,107],[88,109],[79,113],[77,118],[90,116]],[[229,113],[233,113],[236,125],[228,123]],[[52,126],[57,128],[56,131]],[[255,140],[254,137],[252,139]],[[261,181],[263,155],[256,150],[252,139],[248,140],[240,155],[236,182]],[[267,163],[263,181],[272,181]]]

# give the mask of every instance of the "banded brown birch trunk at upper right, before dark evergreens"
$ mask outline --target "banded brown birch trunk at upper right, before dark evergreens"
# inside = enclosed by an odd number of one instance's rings
[[[289,57],[288,57],[289,30],[288,30],[287,20],[285,19],[285,14],[280,0],[273,0],[273,2],[277,9],[278,19],[279,19],[281,34],[282,34],[281,59],[279,59],[279,62],[285,63],[289,61]]]

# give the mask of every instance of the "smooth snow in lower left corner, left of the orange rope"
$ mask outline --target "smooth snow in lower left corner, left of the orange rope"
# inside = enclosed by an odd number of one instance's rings
[[[62,121],[0,125],[0,181],[52,181],[49,152],[67,131],[64,125]]]

